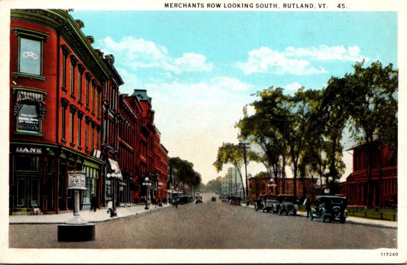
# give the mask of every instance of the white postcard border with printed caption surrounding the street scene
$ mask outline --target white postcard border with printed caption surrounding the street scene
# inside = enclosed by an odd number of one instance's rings
[[[167,1],[170,3],[170,1]],[[191,1],[189,1],[192,3]],[[249,3],[249,1],[194,1],[193,3]],[[84,5],[83,3],[86,3]],[[61,9],[82,9],[82,10],[164,10],[164,1],[150,0],[146,3],[136,3],[135,1],[115,0],[115,1],[25,1],[25,0],[4,0],[0,2],[0,31],[2,38],[0,44],[4,51],[2,64],[0,64],[0,98],[3,98],[5,104],[0,105],[0,113],[9,112],[9,29],[10,29],[10,9],[12,8],[61,8]],[[172,1],[172,3],[188,3],[188,1]],[[252,3],[300,3],[298,1],[252,1]],[[323,1],[304,1],[304,3],[313,3],[316,6]],[[346,10],[338,10],[336,6],[344,3]],[[343,1],[328,2],[328,9],[315,11],[396,11],[398,12],[398,66],[399,66],[399,156],[400,162],[405,158],[406,141],[404,132],[406,131],[404,117],[406,117],[406,107],[404,104],[406,83],[404,80],[405,62],[406,62],[406,39],[403,38],[407,25],[407,1],[386,1],[386,0],[363,0],[363,1]],[[231,11],[234,9],[165,9],[167,11],[175,10],[211,10],[211,11]],[[259,11],[259,9],[235,9],[238,11]],[[267,11],[309,11],[309,10],[263,10]],[[310,11],[312,12],[312,11]],[[353,25],[350,25],[353,26]],[[386,29],[382,29],[386,30]],[[6,121],[7,120],[7,121]],[[0,194],[0,262],[2,263],[400,263],[407,261],[405,252],[405,239],[407,233],[405,226],[405,188],[406,178],[403,176],[406,170],[406,163],[398,164],[398,196],[399,196],[399,217],[398,223],[398,249],[375,249],[375,250],[144,250],[144,249],[125,249],[125,250],[72,250],[72,249],[9,249],[8,248],[8,169],[9,158],[9,126],[8,119],[0,123],[0,145],[3,147],[0,166],[2,168],[2,178],[0,178],[0,187],[3,191]],[[404,204],[403,204],[404,203]],[[381,252],[398,252],[397,257],[383,257]],[[323,256],[322,259],[315,257]]]

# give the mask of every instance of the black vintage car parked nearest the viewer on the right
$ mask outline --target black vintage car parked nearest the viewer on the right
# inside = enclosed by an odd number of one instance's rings
[[[347,206],[346,197],[341,196],[316,196],[314,199],[314,207],[311,208],[310,220],[314,217],[320,218],[321,222],[327,219],[329,222],[338,220],[342,224],[346,220],[345,208]]]

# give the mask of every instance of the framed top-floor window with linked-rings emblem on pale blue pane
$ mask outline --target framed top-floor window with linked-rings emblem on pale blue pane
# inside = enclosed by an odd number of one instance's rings
[[[45,79],[42,76],[43,43],[48,34],[20,27],[12,29],[18,37],[18,67],[13,75]]]

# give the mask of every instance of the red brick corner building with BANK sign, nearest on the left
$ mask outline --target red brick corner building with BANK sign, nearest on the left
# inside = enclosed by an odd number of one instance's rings
[[[102,88],[92,37],[63,10],[11,10],[10,209],[72,209],[67,173],[86,172],[82,206],[102,196]]]

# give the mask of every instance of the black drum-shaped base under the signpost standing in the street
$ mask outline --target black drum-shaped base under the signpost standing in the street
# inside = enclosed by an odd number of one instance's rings
[[[95,224],[58,225],[59,242],[80,242],[95,240]]]

